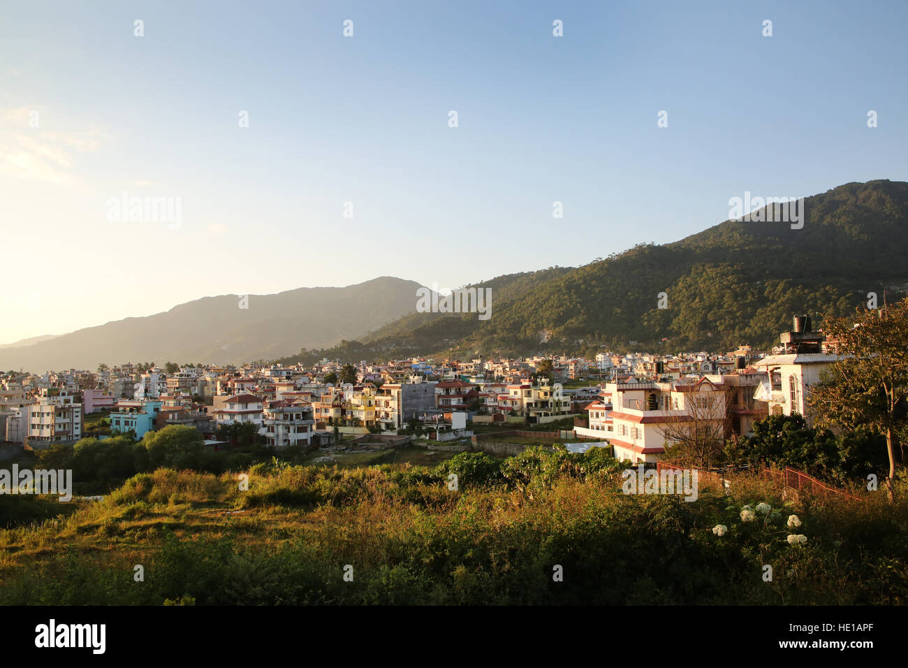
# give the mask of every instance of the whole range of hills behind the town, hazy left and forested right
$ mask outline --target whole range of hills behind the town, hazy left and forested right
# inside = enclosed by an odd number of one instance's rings
[[[639,244],[580,267],[501,275],[491,317],[416,312],[419,284],[205,297],[162,314],[0,346],[0,368],[123,362],[311,362],[410,355],[595,354],[768,347],[793,314],[822,325],[908,287],[908,183],[840,185],[804,198],[800,229],[726,220],[671,244]],[[766,216],[768,217],[768,216]],[[44,337],[35,337],[42,339]]]

